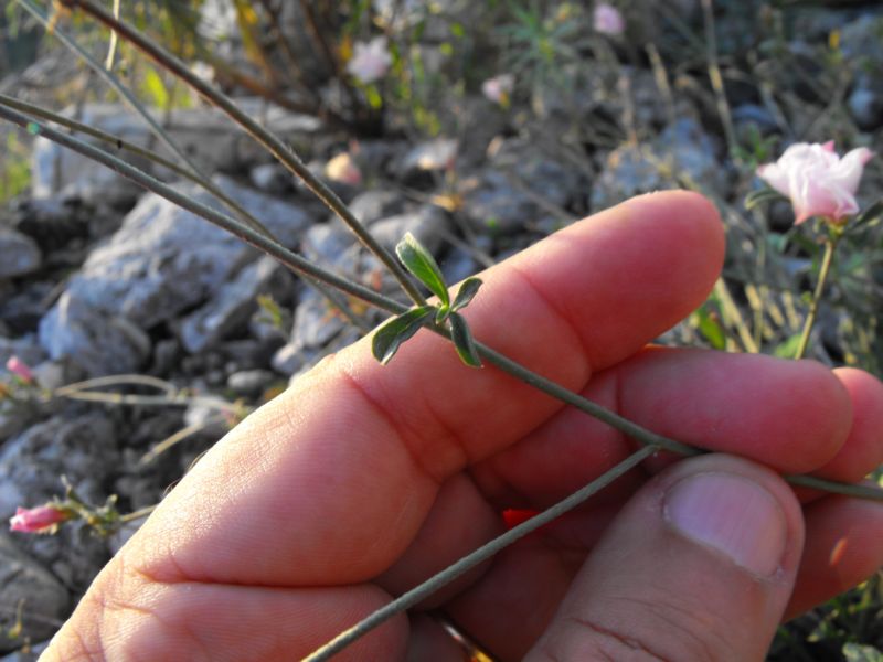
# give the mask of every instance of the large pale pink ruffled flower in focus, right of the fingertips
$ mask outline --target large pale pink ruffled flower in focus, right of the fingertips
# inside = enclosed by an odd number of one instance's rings
[[[864,164],[874,156],[870,149],[853,149],[842,159],[833,140],[825,145],[798,142],[775,163],[757,169],[757,175],[791,200],[795,223],[810,216],[838,222],[859,211],[855,190]]]

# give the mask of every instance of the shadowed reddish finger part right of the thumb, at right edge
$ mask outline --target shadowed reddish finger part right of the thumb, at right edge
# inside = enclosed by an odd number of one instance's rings
[[[807,542],[786,619],[883,567],[883,504],[828,495],[805,506]]]

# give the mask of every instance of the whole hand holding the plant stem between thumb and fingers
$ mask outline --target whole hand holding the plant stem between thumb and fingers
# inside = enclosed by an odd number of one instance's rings
[[[647,346],[704,301],[723,253],[708,201],[655,193],[481,275],[465,311],[476,338],[720,453],[653,458],[422,607],[502,660],[760,660],[783,618],[883,563],[883,506],[795,496],[776,476],[857,481],[880,463],[880,382],[811,361]],[[432,333],[387,366],[363,339],[215,445],[43,659],[299,659],[501,533],[503,510],[545,508],[635,448],[493,367],[465,367]],[[666,524],[659,504],[696,472],[766,490],[783,544],[775,572],[748,573]],[[417,609],[339,659],[460,655]]]

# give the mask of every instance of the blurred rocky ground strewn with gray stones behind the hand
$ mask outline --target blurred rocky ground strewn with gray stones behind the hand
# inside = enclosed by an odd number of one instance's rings
[[[883,127],[883,88],[882,78],[865,72],[869,58],[883,66],[882,15],[879,8],[826,10],[807,19],[791,43],[802,52],[840,31],[857,72],[842,99],[844,121],[855,140],[872,147]],[[352,141],[262,100],[238,103],[300,146],[317,172],[328,173],[334,157],[349,154],[361,178],[333,185],[353,213],[387,247],[405,232],[418,236],[449,281],[636,193],[685,185],[721,205],[731,238],[728,274],[741,282],[741,269],[752,264],[745,256],[756,252],[751,239],[763,223],[744,212],[741,200],[759,184],[741,174],[727,153],[704,74],[682,73],[683,87],[672,96],[649,66],[597,70],[592,84],[576,90],[575,117],[553,90],[534,90],[521,99],[522,108],[509,110],[475,94],[459,108],[461,134],[435,139]],[[701,81],[695,89],[690,75]],[[744,87],[730,90],[737,135],[795,139],[780,108]],[[809,106],[826,108],[818,100]],[[121,107],[86,105],[78,113],[127,140],[148,141]],[[632,139],[606,137],[603,129],[623,124],[623,117],[637,127]],[[215,183],[286,246],[370,287],[395,291],[343,225],[216,113],[180,110],[164,121],[191,156],[216,172]],[[821,140],[807,126],[812,118],[792,115],[788,121],[802,126],[805,138]],[[572,140],[581,122],[600,131],[594,142],[585,131]],[[230,424],[213,402],[255,406],[363,333],[316,290],[223,231],[43,139],[33,150],[31,193],[0,211],[0,363],[19,356],[46,389],[120,373],[149,375],[177,389],[177,402],[0,403],[0,514],[61,494],[62,476],[96,504],[109,494],[118,495],[123,512],[155,503]],[[876,172],[879,184],[879,166]],[[215,204],[196,186],[179,185]],[[873,183],[862,190],[870,200],[880,191]],[[774,232],[787,231],[789,214],[787,204],[773,209]],[[769,266],[770,278],[796,289],[810,263],[806,254],[784,256]],[[736,299],[745,303],[741,295]],[[366,324],[380,319],[355,312]],[[842,320],[829,312],[833,340],[820,357],[836,361]],[[663,340],[704,342],[694,323]],[[157,394],[148,386],[125,392]],[[158,442],[201,424],[143,461]],[[0,638],[0,653],[9,653],[0,660],[26,659],[13,652],[25,637],[34,644],[51,637],[130,530],[108,540],[76,525],[52,536],[0,531],[0,628],[9,629],[23,606],[22,637]]]

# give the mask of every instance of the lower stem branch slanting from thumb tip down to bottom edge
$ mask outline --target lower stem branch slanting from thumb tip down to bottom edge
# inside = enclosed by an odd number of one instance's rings
[[[519,538],[524,537],[529,533],[536,531],[540,526],[549,524],[564,513],[573,510],[586,499],[609,485],[620,476],[637,467],[657,450],[659,449],[655,446],[645,446],[608,471],[604,472],[584,488],[581,488],[570,496],[558,501],[555,505],[544,510],[542,513],[531,517],[526,522],[510,528],[502,535],[493,538],[489,543],[486,543],[475,552],[464,556],[457,563],[448,566],[437,575],[434,575],[419,586],[412,588],[409,591],[396,598],[385,607],[377,609],[364,620],[360,621],[349,630],[344,630],[323,647],[304,658],[302,662],[321,662],[323,660],[330,660],[332,655],[336,655],[353,641],[363,637],[377,626],[386,622],[392,617],[424,600],[443,586],[450,584],[467,570],[470,570],[477,565],[491,558],[494,554],[517,542]]]

